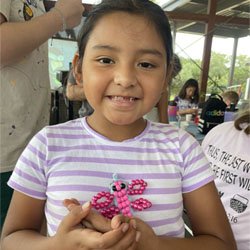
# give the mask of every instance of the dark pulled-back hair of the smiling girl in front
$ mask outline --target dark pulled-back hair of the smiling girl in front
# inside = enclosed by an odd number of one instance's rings
[[[94,6],[85,19],[78,38],[79,61],[82,61],[87,41],[98,20],[116,11],[145,16],[155,25],[156,30],[162,37],[167,54],[167,66],[169,66],[173,55],[173,48],[168,18],[161,7],[150,0],[103,0],[100,4]]]

